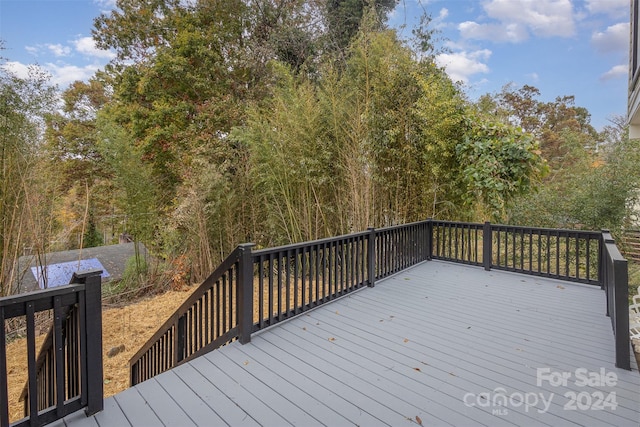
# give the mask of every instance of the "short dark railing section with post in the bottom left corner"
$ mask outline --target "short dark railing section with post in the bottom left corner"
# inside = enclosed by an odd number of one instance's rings
[[[5,322],[26,320],[28,380],[25,418],[12,426],[41,426],[79,409],[103,407],[101,271],[74,274],[69,286],[0,298],[0,425],[9,425]],[[36,314],[53,311],[36,358]]]

